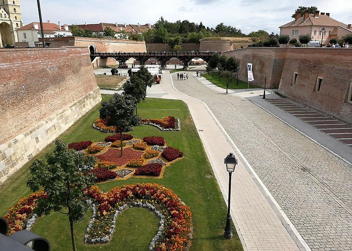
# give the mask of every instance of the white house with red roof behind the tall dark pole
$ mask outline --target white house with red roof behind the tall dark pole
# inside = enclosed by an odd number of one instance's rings
[[[43,28],[44,38],[72,36],[71,31],[68,29],[68,25],[61,26],[48,21],[47,23],[43,23]],[[38,42],[39,38],[42,37],[40,23],[33,22],[17,29],[17,35],[19,42]]]

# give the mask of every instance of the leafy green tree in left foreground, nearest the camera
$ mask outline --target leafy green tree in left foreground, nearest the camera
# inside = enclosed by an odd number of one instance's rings
[[[93,156],[67,150],[64,143],[56,140],[54,152],[46,155],[46,163],[35,160],[30,167],[32,176],[27,186],[33,192],[43,189],[47,195],[38,201],[34,212],[47,215],[55,211],[67,215],[73,250],[76,250],[73,223],[84,218],[88,207],[83,190],[93,185],[93,176],[83,173],[93,169],[95,162]],[[68,212],[62,212],[63,208]]]

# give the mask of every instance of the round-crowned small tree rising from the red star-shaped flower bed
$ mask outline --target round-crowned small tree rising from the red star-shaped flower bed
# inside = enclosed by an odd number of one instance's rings
[[[129,132],[132,127],[139,126],[139,116],[134,114],[137,101],[131,95],[115,93],[109,101],[103,102],[99,109],[100,118],[108,120],[108,126],[116,127],[116,133],[120,133],[122,143],[122,133]],[[121,157],[122,157],[121,144]]]

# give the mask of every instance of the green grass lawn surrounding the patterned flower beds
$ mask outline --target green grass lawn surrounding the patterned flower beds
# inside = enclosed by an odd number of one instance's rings
[[[103,95],[103,101],[108,99],[108,95]],[[59,139],[65,143],[103,141],[109,134],[101,133],[92,127],[92,123],[99,116],[99,107],[100,105],[97,105],[80,118]],[[135,127],[130,134],[138,138],[162,136],[168,146],[180,149],[185,157],[167,167],[162,179],[130,178],[103,183],[99,187],[107,191],[123,184],[146,182],[162,184],[172,189],[191,207],[194,227],[191,250],[242,250],[235,230],[234,238],[230,240],[222,236],[226,222],[226,205],[187,105],[180,100],[147,98],[145,102],[138,104],[138,114],[143,118],[161,118],[167,115],[179,117],[182,124],[181,132],[161,132],[155,127],[140,126]],[[35,158],[52,149],[53,144],[50,144]],[[0,215],[4,215],[18,199],[30,194],[26,182],[32,162],[33,160],[0,187]],[[151,211],[130,208],[118,216],[112,241],[108,244],[84,244],[83,236],[91,215],[90,210],[82,222],[75,224],[78,250],[147,250],[151,238],[158,229],[159,220]],[[69,224],[65,215],[52,213],[43,216],[37,220],[32,230],[46,237],[52,250],[71,249]]]

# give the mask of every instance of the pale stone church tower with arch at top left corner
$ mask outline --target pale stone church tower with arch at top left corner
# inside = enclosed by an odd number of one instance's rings
[[[23,26],[19,0],[0,0],[0,47],[17,42],[16,30]]]

